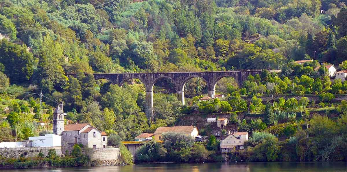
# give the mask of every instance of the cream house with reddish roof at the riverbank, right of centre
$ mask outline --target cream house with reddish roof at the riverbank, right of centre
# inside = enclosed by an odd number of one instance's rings
[[[248,140],[247,132],[235,132],[220,140],[220,151],[222,153],[233,150],[244,149],[245,141]]]

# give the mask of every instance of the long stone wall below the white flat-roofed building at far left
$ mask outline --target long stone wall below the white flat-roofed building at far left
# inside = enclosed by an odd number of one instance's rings
[[[16,158],[18,159],[21,155],[24,157],[35,157],[39,155],[40,151],[44,156],[48,155],[50,149],[55,149],[57,155],[61,155],[61,147],[15,147],[15,148],[0,148],[0,156],[7,158]]]

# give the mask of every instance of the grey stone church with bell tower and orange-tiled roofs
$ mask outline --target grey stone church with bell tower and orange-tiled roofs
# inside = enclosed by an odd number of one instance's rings
[[[107,134],[98,130],[89,123],[64,124],[62,104],[59,104],[53,112],[53,134],[61,136],[61,145],[72,147],[75,144],[83,144],[89,148],[106,148]]]

